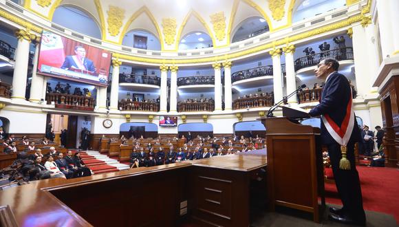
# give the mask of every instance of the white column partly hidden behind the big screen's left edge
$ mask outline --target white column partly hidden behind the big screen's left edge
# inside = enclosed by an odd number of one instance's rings
[[[33,69],[32,69],[32,80],[30,82],[30,102],[40,102],[43,98],[43,83],[44,83],[44,76],[37,75],[37,63],[39,58],[39,44],[40,38],[37,37],[35,40],[35,50],[34,50],[34,57],[33,57]],[[43,98],[44,99],[44,98]]]

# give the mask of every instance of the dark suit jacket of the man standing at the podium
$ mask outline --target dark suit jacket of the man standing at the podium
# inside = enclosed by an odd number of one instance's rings
[[[325,82],[323,91],[321,92],[320,104],[311,109],[309,114],[310,116],[328,114],[336,125],[341,127],[346,115],[349,98],[352,98],[349,81],[343,74],[334,72]],[[359,133],[360,131],[355,119],[354,129],[349,141],[358,142]],[[321,120],[321,142],[323,144],[334,144],[336,142],[325,128],[323,120]]]

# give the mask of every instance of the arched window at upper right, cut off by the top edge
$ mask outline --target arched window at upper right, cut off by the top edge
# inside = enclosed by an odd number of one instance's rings
[[[303,0],[296,1],[294,8],[292,9],[292,23],[314,17],[335,10],[345,6],[346,0]]]

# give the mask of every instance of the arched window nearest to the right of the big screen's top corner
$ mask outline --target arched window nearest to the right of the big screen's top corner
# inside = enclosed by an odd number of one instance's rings
[[[123,37],[122,45],[145,50],[161,50],[157,36],[147,30],[131,30]]]

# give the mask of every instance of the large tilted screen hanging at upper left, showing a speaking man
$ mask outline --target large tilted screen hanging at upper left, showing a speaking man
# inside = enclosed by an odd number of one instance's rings
[[[111,52],[43,31],[37,73],[106,87]]]

